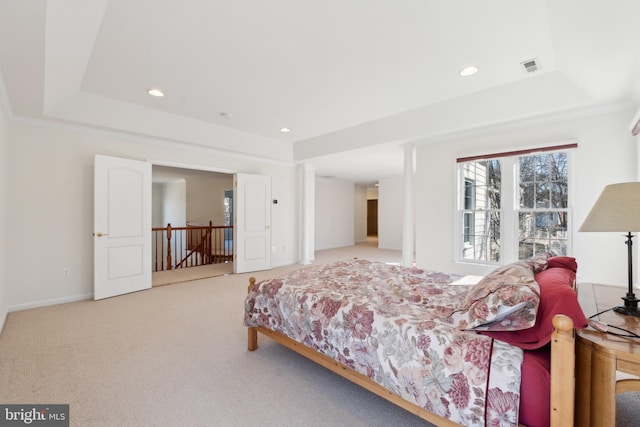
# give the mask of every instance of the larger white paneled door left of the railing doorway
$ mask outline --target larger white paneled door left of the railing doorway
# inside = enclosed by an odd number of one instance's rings
[[[93,298],[151,288],[151,164],[96,155]]]

